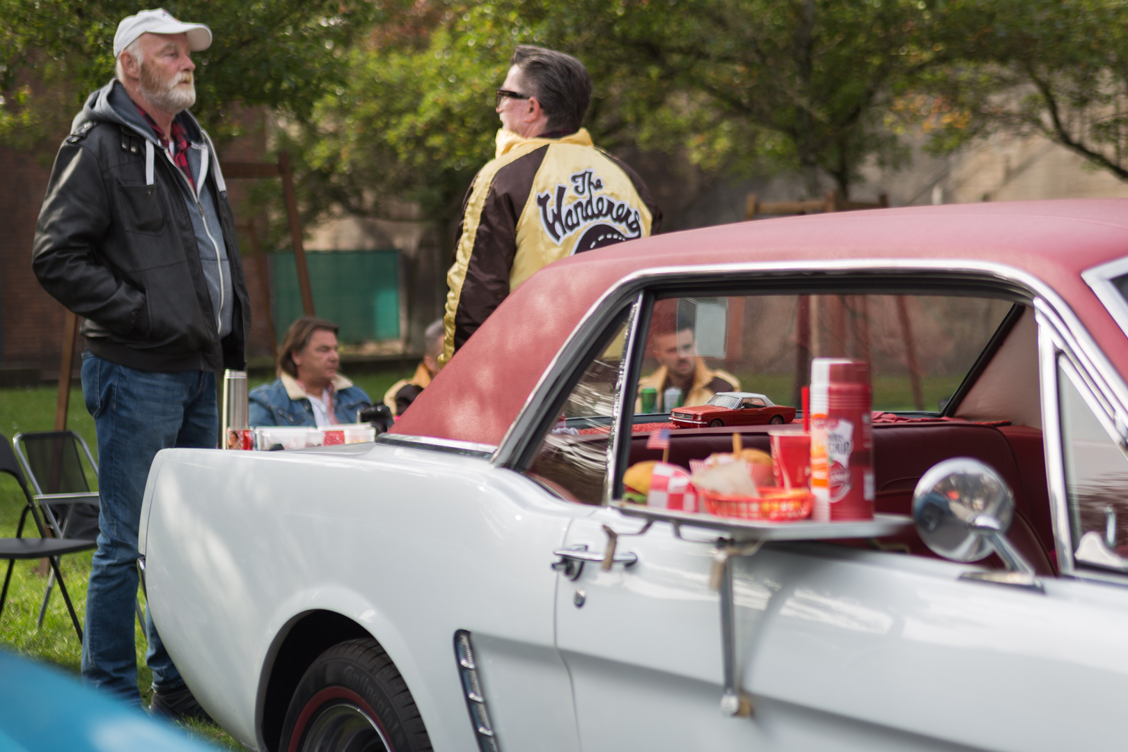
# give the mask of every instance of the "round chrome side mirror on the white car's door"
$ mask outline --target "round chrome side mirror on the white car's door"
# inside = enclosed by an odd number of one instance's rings
[[[1006,539],[1014,494],[994,469],[958,457],[933,466],[913,492],[913,519],[920,540],[952,561],[978,561],[994,551],[1006,572],[966,572],[961,580],[1042,590],[1033,567]]]

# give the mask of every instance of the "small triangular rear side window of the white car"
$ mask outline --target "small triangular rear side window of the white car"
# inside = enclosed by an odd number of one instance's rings
[[[627,333],[624,311],[605,335],[598,354],[584,365],[529,467],[529,476],[569,501],[603,503],[607,443],[623,386]]]

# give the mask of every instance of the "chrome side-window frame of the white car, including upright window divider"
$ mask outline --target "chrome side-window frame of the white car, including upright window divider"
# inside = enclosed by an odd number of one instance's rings
[[[714,295],[749,294],[755,290],[763,290],[765,294],[835,294],[848,291],[858,294],[984,294],[1008,299],[1033,307],[1036,316],[1052,320],[1056,330],[1061,333],[1059,338],[1070,344],[1075,352],[1082,353],[1081,360],[1089,372],[1099,374],[1104,392],[1113,395],[1119,406],[1128,405],[1128,386],[1073,310],[1046,282],[1013,266],[971,259],[888,258],[668,266],[626,275],[611,284],[589,308],[529,392],[491,461],[497,467],[519,472],[531,465],[544,433],[555,421],[554,410],[567,398],[580,378],[589,351],[593,356],[594,340],[603,335],[606,327],[624,307],[632,306],[634,324],[624,345],[624,363],[628,371],[608,440],[608,451],[614,452],[615,457],[614,462],[608,465],[608,474],[611,475],[605,483],[605,504],[610,498],[622,497],[622,479],[629,457],[629,424],[626,415],[633,412],[625,408],[633,406],[636,398],[637,384],[633,377],[641,372],[643,360],[641,333],[645,333],[650,324],[650,311],[655,297],[672,297],[690,290],[696,294],[702,294],[702,290],[710,290]],[[1039,327],[1039,331],[1041,330]],[[1043,400],[1045,397],[1046,390]],[[1047,413],[1043,406],[1043,415],[1051,413]],[[1128,410],[1123,410],[1123,415],[1128,415]],[[1056,424],[1054,425],[1056,428]],[[1128,435],[1128,419],[1121,421],[1118,417],[1117,425],[1123,425],[1125,435]],[[1050,472],[1049,461],[1047,472]],[[1051,502],[1052,494],[1051,490]],[[1051,503],[1051,515],[1057,531],[1056,503]],[[1063,560],[1068,560],[1072,565],[1072,551],[1067,559],[1059,558],[1059,563]]]

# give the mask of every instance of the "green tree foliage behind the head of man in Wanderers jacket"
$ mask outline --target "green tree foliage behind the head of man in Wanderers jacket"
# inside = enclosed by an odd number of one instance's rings
[[[425,219],[449,238],[493,156],[493,90],[515,44],[580,57],[603,148],[684,153],[708,171],[801,169],[844,195],[904,156],[885,108],[936,62],[920,0],[385,0],[347,81],[288,144],[303,220]],[[414,213],[417,210],[418,213]]]

